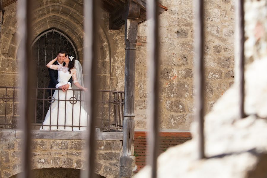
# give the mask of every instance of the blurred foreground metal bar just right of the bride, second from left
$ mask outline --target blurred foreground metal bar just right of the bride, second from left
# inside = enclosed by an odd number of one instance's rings
[[[98,43],[98,18],[101,12],[99,8],[98,0],[84,1],[84,71],[90,71],[88,73],[88,81],[85,82],[88,86],[89,92],[87,94],[88,102],[88,115],[89,118],[89,129],[88,129],[88,166],[83,177],[93,178],[95,177],[95,117],[96,109],[93,109],[93,105],[96,103],[96,69],[97,69],[97,43]],[[88,60],[89,59],[89,60]]]

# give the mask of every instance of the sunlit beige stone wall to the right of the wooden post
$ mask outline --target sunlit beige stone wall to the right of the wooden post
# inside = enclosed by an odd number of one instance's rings
[[[193,1],[161,0],[161,129],[189,130],[193,121]],[[206,110],[233,82],[234,1],[205,1]],[[147,126],[147,35],[149,21],[138,29],[136,53],[136,128]]]

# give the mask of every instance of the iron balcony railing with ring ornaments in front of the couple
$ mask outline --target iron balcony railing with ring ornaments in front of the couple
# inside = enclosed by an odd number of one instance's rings
[[[60,90],[55,88],[33,88],[33,92],[35,93],[35,97],[32,98],[32,101],[34,102],[35,108],[32,109],[34,112],[34,120],[31,121],[31,128],[32,129],[40,129],[44,126],[46,127],[71,127],[71,130],[73,131],[74,127],[87,127],[83,125],[74,125],[73,124],[73,109],[74,105],[77,104],[79,106],[79,120],[81,120],[81,108],[82,105],[86,106],[86,102],[84,100],[79,100],[77,97],[72,94],[73,96],[69,99],[66,99],[67,92],[71,91],[77,91],[82,94],[82,90],[78,89],[70,89],[65,92],[65,99],[55,99],[54,96],[45,96],[45,93],[47,90],[50,90],[50,93],[52,93],[52,90]],[[17,129],[19,125],[19,112],[18,112],[18,93],[20,92],[19,87],[0,87],[0,128],[3,129]],[[38,93],[42,93],[42,96],[38,95]],[[59,93],[58,93],[59,96]],[[58,97],[59,98],[59,97]],[[44,125],[44,119],[47,115],[48,109],[45,107],[47,104],[57,104],[57,107],[59,108],[60,104],[63,104],[65,106],[65,122],[66,123],[66,106],[67,102],[71,103],[72,105],[72,124],[71,125],[60,125],[58,124],[58,117],[59,113],[57,113],[57,124],[49,124]],[[39,103],[39,104],[37,104]],[[83,104],[84,103],[84,104]],[[99,128],[100,131],[123,131],[123,106],[124,106],[124,92],[122,91],[111,91],[111,90],[98,90],[98,96],[97,101],[95,104],[95,109],[97,110],[96,115],[96,128]],[[84,108],[86,110],[86,108]],[[87,118],[88,119],[88,118]],[[50,120],[51,120],[51,112],[50,112]],[[80,123],[80,122],[79,122]],[[49,129],[50,130],[50,129]]]

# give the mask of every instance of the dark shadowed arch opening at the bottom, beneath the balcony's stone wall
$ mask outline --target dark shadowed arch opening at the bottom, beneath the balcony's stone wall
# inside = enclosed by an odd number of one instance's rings
[[[20,174],[13,175],[10,178],[18,178]],[[80,178],[80,169],[70,168],[44,168],[32,170],[32,176],[34,178]],[[95,175],[96,178],[105,178],[104,176]]]

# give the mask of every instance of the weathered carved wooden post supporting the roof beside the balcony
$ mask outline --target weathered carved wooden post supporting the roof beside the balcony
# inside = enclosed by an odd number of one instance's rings
[[[125,104],[123,114],[123,155],[134,155],[134,86],[137,20],[125,20]]]

